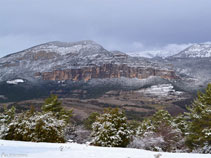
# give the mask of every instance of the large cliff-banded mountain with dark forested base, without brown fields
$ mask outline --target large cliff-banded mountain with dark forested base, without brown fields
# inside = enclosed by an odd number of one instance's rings
[[[179,78],[168,65],[110,52],[94,41],[49,42],[0,58],[0,95],[5,98],[17,97],[20,87],[23,98],[29,94],[42,96],[43,92],[46,95],[55,89],[67,95],[75,89],[88,91],[89,87],[93,90],[103,85],[106,91],[134,89],[137,85],[131,84],[132,79],[138,79],[143,87],[142,80],[150,77],[154,78],[145,82],[147,85]],[[127,83],[122,84],[123,80]]]

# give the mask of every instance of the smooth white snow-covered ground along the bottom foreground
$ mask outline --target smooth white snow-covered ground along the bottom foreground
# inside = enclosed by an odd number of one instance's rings
[[[210,158],[207,154],[162,153],[104,148],[75,143],[52,144],[0,140],[0,158]]]

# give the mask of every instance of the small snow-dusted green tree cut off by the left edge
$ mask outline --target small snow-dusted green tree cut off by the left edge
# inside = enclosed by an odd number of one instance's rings
[[[0,139],[4,139],[4,137],[6,136],[9,130],[8,125],[11,123],[14,117],[15,107],[12,107],[9,110],[5,108],[4,112],[0,113]]]

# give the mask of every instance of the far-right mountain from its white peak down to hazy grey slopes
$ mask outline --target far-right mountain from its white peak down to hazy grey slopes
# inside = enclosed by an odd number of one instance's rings
[[[194,44],[163,62],[172,64],[175,72],[190,81],[185,83],[192,89],[199,90],[211,82],[211,44]]]

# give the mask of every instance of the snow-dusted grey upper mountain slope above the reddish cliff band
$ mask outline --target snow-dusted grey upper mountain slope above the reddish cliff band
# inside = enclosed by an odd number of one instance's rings
[[[0,81],[33,80],[35,73],[103,64],[161,67],[157,63],[109,52],[94,41],[49,42],[0,58]]]

